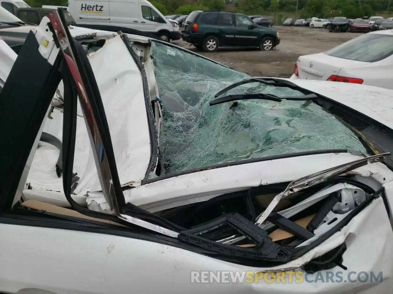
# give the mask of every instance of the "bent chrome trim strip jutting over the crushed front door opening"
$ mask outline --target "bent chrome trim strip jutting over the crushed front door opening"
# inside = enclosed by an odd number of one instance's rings
[[[285,198],[293,195],[296,192],[299,192],[303,189],[312,187],[312,186],[319,184],[323,181],[329,180],[334,176],[338,176],[338,175],[343,174],[345,172],[352,171],[353,169],[357,169],[359,167],[367,165],[369,162],[378,162],[378,161],[382,160],[382,158],[384,156],[390,155],[390,154],[391,154],[390,152],[386,152],[386,153],[371,155],[371,156],[368,156],[365,158],[354,160],[352,162],[338,165],[336,167],[331,167],[330,169],[325,169],[324,171],[314,172],[313,174],[309,174],[308,176],[305,176],[303,178],[299,178],[298,180],[292,181],[283,192],[277,194],[273,198],[273,200],[270,202],[268,207],[266,207],[264,212],[262,212],[257,217],[255,224],[258,225],[259,227],[262,227],[264,221],[268,218],[270,213],[273,212],[274,208],[279,203],[281,198],[285,199]],[[233,244],[233,243],[243,240],[244,238],[245,238],[244,236],[233,235],[228,238],[219,240],[217,242],[224,243],[224,244]]]

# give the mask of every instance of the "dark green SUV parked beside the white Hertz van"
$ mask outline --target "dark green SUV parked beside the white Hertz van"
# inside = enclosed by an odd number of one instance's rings
[[[218,11],[193,11],[184,22],[182,39],[198,49],[214,52],[219,46],[259,47],[272,50],[280,44],[275,29],[261,27],[245,15]]]

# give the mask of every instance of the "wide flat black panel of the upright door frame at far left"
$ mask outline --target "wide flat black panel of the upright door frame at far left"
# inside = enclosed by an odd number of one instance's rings
[[[38,47],[30,31],[0,94],[0,212],[11,209],[29,154],[61,80],[57,71],[60,58],[52,66]]]

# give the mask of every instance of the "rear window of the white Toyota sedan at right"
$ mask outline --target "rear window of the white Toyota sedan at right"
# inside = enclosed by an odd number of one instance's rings
[[[345,42],[325,54],[363,62],[376,62],[393,54],[393,36],[364,34]]]

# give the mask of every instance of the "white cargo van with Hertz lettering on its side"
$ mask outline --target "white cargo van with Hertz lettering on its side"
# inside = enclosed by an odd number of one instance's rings
[[[69,0],[68,11],[77,25],[127,27],[167,42],[180,39],[178,25],[147,0]]]

